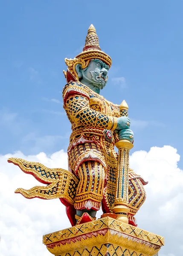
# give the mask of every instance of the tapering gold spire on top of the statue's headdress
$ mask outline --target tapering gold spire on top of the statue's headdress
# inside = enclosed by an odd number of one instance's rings
[[[99,38],[98,38],[98,35],[96,34],[96,29],[93,26],[93,24],[91,24],[88,29],[83,51],[89,50],[92,48],[101,50],[101,48],[99,47]]]

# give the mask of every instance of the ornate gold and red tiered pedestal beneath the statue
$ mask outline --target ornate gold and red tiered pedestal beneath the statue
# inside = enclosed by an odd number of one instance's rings
[[[164,238],[106,217],[43,237],[55,256],[152,256]]]

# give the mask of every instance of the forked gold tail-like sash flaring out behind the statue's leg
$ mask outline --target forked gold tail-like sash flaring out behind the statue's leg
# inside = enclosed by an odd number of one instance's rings
[[[47,186],[34,186],[32,189],[16,189],[15,193],[20,193],[25,198],[54,199],[63,198],[65,205],[74,204],[76,186],[78,178],[71,172],[56,168],[49,169],[41,163],[29,162],[21,158],[9,158],[9,163],[13,163],[28,174],[31,174],[39,182]]]

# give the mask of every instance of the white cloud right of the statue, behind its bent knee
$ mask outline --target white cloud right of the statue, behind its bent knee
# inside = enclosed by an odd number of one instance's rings
[[[165,237],[159,256],[183,255],[183,171],[171,146],[136,151],[130,158],[135,172],[148,180],[147,199],[137,214],[138,226]],[[169,253],[169,254],[168,254]]]

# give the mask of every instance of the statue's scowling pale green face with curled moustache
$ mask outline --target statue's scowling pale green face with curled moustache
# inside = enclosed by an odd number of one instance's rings
[[[88,67],[82,70],[82,79],[102,90],[108,80],[108,70],[109,66],[104,61],[93,59]]]

